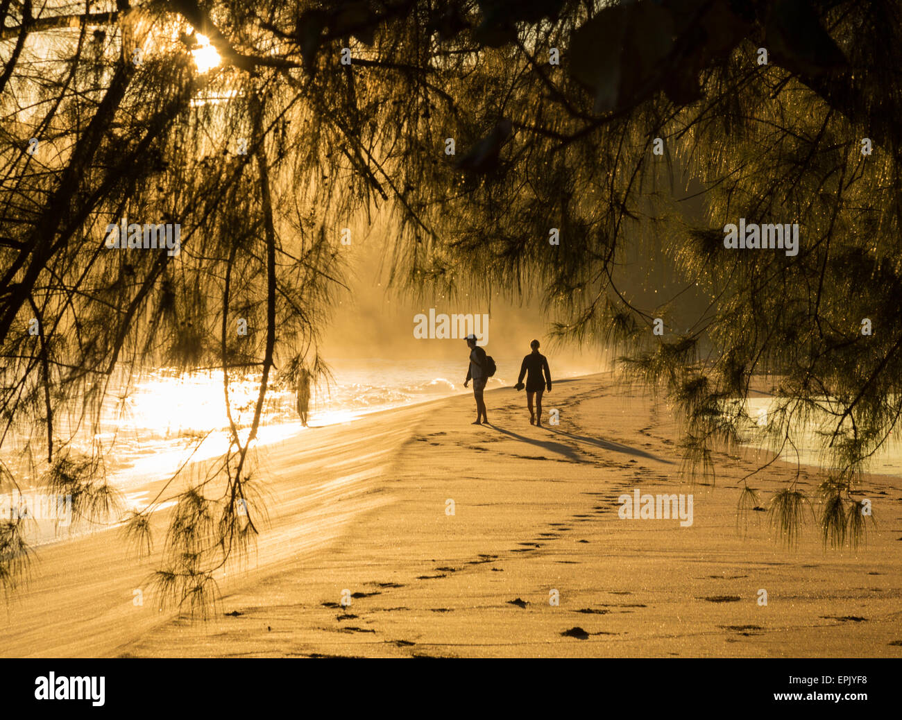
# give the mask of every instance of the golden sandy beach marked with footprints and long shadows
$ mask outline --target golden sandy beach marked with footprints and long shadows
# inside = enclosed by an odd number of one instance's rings
[[[244,568],[216,577],[207,622],[161,610],[146,583],[166,512],[150,558],[121,529],[42,547],[6,602],[0,653],[902,656],[898,478],[870,476],[877,524],[856,551],[824,550],[810,519],[787,549],[766,512],[737,530],[737,480],[763,454],[718,454],[715,484],[681,484],[673,413],[611,374],[556,383],[556,427],[530,426],[511,388],[486,402],[491,426],[455,397],[261,448],[269,520]],[[752,479],[762,505],[790,472]],[[803,468],[808,494],[817,473]],[[692,524],[621,519],[636,488],[692,494]]]

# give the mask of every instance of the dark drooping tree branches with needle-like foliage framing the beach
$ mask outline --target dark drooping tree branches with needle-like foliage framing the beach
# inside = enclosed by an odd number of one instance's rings
[[[775,448],[805,420],[824,432],[824,540],[858,540],[861,474],[902,411],[897,2],[0,0],[0,17],[0,438],[27,429],[34,473],[100,517],[103,454],[69,444],[111,388],[147,365],[222,368],[226,397],[262,381],[249,436],[232,422],[218,471],[173,485],[158,579],[179,602],[202,605],[253,540],[262,507],[238,508],[266,393],[325,372],[340,235],[377,217],[400,290],[531,293],[561,337],[619,348],[682,411],[690,470],[748,437],[742,401],[768,383]],[[221,59],[206,71],[198,33]],[[180,253],[106,248],[123,217],[179,223]],[[740,218],[797,224],[797,254],[726,248]],[[671,281],[651,303],[623,263],[649,247]],[[235,337],[239,317],[258,331]],[[791,477],[772,499],[790,536],[807,502]],[[3,522],[5,586],[24,558]]]

